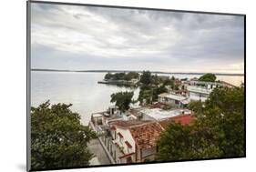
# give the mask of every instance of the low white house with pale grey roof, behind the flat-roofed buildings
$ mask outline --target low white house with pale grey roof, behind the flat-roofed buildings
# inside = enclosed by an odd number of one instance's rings
[[[173,93],[162,93],[159,95],[159,102],[169,106],[184,107],[189,104],[188,97]]]

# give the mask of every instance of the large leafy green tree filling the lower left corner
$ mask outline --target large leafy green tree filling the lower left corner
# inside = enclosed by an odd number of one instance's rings
[[[80,124],[80,116],[70,106],[50,106],[46,101],[31,107],[32,169],[87,166],[94,157],[87,144],[96,133]]]

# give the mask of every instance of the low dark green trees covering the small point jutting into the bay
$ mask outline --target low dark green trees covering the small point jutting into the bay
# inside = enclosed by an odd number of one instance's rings
[[[130,81],[131,79],[138,79],[139,74],[137,72],[129,72],[129,73],[115,73],[111,74],[108,73],[105,75],[105,79],[112,79],[112,80],[126,80]]]

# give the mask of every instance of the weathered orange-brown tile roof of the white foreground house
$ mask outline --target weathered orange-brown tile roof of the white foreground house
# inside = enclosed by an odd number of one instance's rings
[[[162,127],[158,122],[129,127],[131,136],[140,148],[156,147]]]

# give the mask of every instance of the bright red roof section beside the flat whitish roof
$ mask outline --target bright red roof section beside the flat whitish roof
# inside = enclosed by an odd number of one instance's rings
[[[179,116],[173,116],[173,117],[169,117],[169,118],[165,118],[159,121],[159,124],[163,127],[166,128],[166,126],[168,126],[169,122],[173,120],[177,123],[180,123],[182,125],[189,125],[192,120],[193,117],[189,114],[186,115],[179,115]]]

